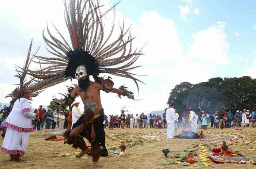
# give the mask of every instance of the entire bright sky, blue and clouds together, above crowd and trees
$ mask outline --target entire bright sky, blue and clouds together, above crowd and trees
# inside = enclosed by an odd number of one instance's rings
[[[106,6],[114,2],[117,0],[102,0]],[[123,105],[134,113],[161,110],[166,106],[170,90],[184,81],[199,83],[217,76],[255,78],[255,5],[252,0],[246,3],[234,0],[121,1],[116,7],[116,23],[124,19],[127,25],[132,24],[132,33],[136,36],[134,48],[148,41],[145,55],[136,63],[144,67],[133,72],[148,76],[139,77],[146,83],[140,84],[139,94],[132,81],[113,76],[115,87],[125,83],[136,98],[143,100],[120,100],[114,94],[102,93],[106,113],[116,114]],[[67,35],[62,0],[17,1],[13,8],[10,6],[11,1],[4,1],[0,6],[0,15],[4,16],[0,25],[0,56],[3,63],[7,63],[0,67],[0,102],[5,103],[9,100],[4,96],[15,87],[10,84],[17,82],[12,78],[13,65],[22,66],[30,39],[34,38],[34,49],[42,45],[39,55],[50,56],[42,40],[46,23],[53,22]],[[112,18],[109,13],[106,23],[112,23]],[[118,29],[114,32],[119,33]],[[51,97],[63,93],[68,84],[69,81],[47,89],[34,99],[33,107],[47,105]]]

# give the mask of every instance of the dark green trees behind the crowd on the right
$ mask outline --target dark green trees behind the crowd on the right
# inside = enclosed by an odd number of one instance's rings
[[[180,113],[188,106],[199,111],[199,105],[204,101],[204,109],[215,113],[217,108],[231,110],[250,109],[256,106],[256,79],[250,76],[240,78],[212,78],[208,82],[191,84],[182,82],[171,90],[167,104],[175,103]]]

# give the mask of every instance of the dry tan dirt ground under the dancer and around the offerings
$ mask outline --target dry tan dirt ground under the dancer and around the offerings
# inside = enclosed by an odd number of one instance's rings
[[[9,161],[9,156],[3,152],[0,153],[0,168],[1,169],[37,169],[37,168],[54,168],[54,169],[82,169],[90,168],[88,165],[91,163],[91,157],[87,159],[74,158],[74,152],[79,152],[69,145],[64,145],[63,141],[45,141],[44,138],[50,136],[50,132],[60,132],[61,130],[41,130],[30,133],[29,146],[25,153],[26,162],[13,162]],[[101,157],[99,159],[99,166],[97,168],[115,168],[115,169],[167,169],[167,168],[198,168],[192,164],[190,166],[183,166],[181,164],[169,164],[175,159],[175,154],[179,154],[184,149],[189,148],[194,143],[199,143],[199,139],[166,139],[166,129],[106,129],[106,144],[109,149],[109,157]],[[176,134],[181,130],[177,130]],[[222,130],[223,131],[223,130]],[[224,133],[229,134],[234,129],[224,130]],[[256,129],[251,127],[236,131],[237,135],[242,140],[256,140]],[[220,130],[208,129],[205,133],[205,138],[208,140],[218,139]],[[116,137],[117,134],[120,136]],[[123,135],[122,135],[123,134]],[[61,138],[60,135],[57,135]],[[124,137],[124,138],[123,138]],[[244,138],[242,138],[244,137]],[[141,139],[140,144],[127,148],[123,156],[114,156],[114,151],[111,150],[114,146],[118,148],[122,139],[128,139],[128,142],[133,139]],[[240,141],[242,141],[240,140]],[[247,142],[246,141],[246,142]],[[0,145],[3,139],[0,139]],[[230,141],[231,142],[231,141]],[[136,142],[137,143],[137,142]],[[204,143],[204,142],[203,142]],[[210,142],[205,142],[210,144]],[[220,145],[220,143],[216,143]],[[162,149],[169,148],[171,152],[168,158],[164,157]],[[229,149],[239,149],[244,156],[256,160],[255,150],[249,151],[248,149],[256,148],[256,144],[249,145],[229,145]],[[120,152],[118,148],[118,152]],[[60,154],[69,153],[68,157],[61,157]],[[86,158],[86,157],[85,157]],[[199,157],[195,157],[200,165]],[[167,164],[168,163],[168,164]],[[201,165],[202,168],[202,165]],[[256,169],[252,164],[213,164],[204,168],[239,168],[239,169]]]

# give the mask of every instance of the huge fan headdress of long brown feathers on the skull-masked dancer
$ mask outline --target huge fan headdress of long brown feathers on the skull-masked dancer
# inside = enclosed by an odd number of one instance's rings
[[[120,3],[120,1],[118,2]],[[117,3],[117,4],[118,4]],[[137,51],[132,50],[131,28],[127,30],[120,26],[120,35],[113,42],[109,43],[109,39],[113,34],[114,20],[112,29],[109,34],[104,32],[103,16],[114,9],[117,4],[103,12],[100,10],[103,5],[99,5],[93,0],[64,0],[65,23],[69,32],[71,45],[64,36],[53,25],[60,39],[57,39],[49,31],[47,25],[46,30],[50,36],[43,38],[46,49],[53,55],[52,57],[34,56],[39,61],[33,60],[38,64],[50,65],[41,70],[29,70],[28,74],[38,79],[38,90],[46,89],[55,84],[64,82],[69,78],[74,78],[75,70],[78,66],[84,65],[89,75],[93,75],[94,79],[98,78],[99,73],[108,73],[124,78],[132,79],[139,90],[138,81],[129,71],[140,66],[131,67],[133,63],[142,55],[143,47]],[[114,17],[115,18],[115,17]],[[120,54],[118,57],[112,57]],[[42,62],[40,62],[40,60]],[[123,66],[120,64],[124,63]],[[118,66],[120,65],[120,66]],[[142,82],[143,83],[143,82]]]

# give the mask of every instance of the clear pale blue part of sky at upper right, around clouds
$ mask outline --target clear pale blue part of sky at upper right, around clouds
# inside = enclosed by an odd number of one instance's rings
[[[112,3],[116,2],[111,0]],[[190,6],[187,15],[187,21],[180,17],[178,6]],[[122,1],[118,5],[127,17],[130,17],[136,23],[140,17],[141,11],[157,11],[163,18],[175,21],[177,30],[181,37],[181,44],[184,51],[188,50],[188,43],[192,43],[191,35],[203,29],[207,29],[218,21],[225,22],[226,40],[229,43],[228,58],[232,64],[220,66],[220,71],[215,76],[241,76],[246,70],[243,67],[253,66],[252,59],[255,58],[256,29],[253,29],[255,21],[255,5],[253,0],[234,1],[234,0],[144,0]],[[119,8],[118,7],[118,8]],[[198,8],[199,14],[193,13]],[[132,12],[131,12],[132,11]],[[184,35],[181,36],[182,32]],[[244,65],[241,65],[241,61]],[[225,71],[225,74],[223,74]]]

